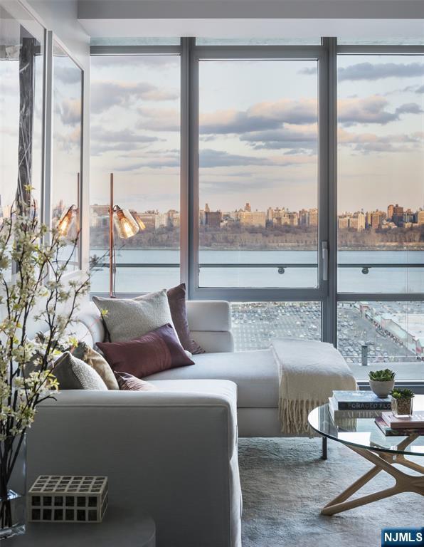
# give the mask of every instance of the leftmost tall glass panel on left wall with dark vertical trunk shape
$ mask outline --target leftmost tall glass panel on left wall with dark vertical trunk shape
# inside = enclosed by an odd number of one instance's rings
[[[43,28],[0,7],[0,222],[19,186],[40,205],[43,135]],[[28,30],[31,28],[31,32]]]

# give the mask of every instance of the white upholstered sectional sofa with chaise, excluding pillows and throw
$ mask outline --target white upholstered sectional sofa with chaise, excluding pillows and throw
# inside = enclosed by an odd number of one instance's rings
[[[189,301],[187,312],[207,353],[148,377],[157,392],[63,391],[39,407],[28,481],[104,474],[112,505],[152,514],[158,547],[240,547],[237,439],[280,436],[277,363],[271,350],[233,353],[227,302]],[[105,338],[93,303],[76,326],[89,344]]]

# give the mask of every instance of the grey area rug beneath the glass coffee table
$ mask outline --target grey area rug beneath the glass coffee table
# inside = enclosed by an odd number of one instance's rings
[[[319,439],[239,439],[243,547],[378,547],[381,528],[424,525],[418,494],[322,516],[322,506],[372,466],[337,442],[329,441],[326,462],[320,449]],[[391,484],[381,473],[360,492]]]

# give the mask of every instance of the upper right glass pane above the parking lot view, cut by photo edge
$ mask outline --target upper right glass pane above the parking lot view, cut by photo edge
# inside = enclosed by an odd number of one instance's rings
[[[339,291],[423,292],[424,57],[338,63]]]

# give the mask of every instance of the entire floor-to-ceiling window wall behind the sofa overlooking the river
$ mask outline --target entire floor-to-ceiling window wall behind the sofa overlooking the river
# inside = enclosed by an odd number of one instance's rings
[[[117,248],[117,293],[181,274],[191,298],[232,303],[239,350],[322,338],[359,377],[363,360],[422,377],[424,49],[391,49],[92,48],[92,256],[107,254],[110,172],[147,221]]]

